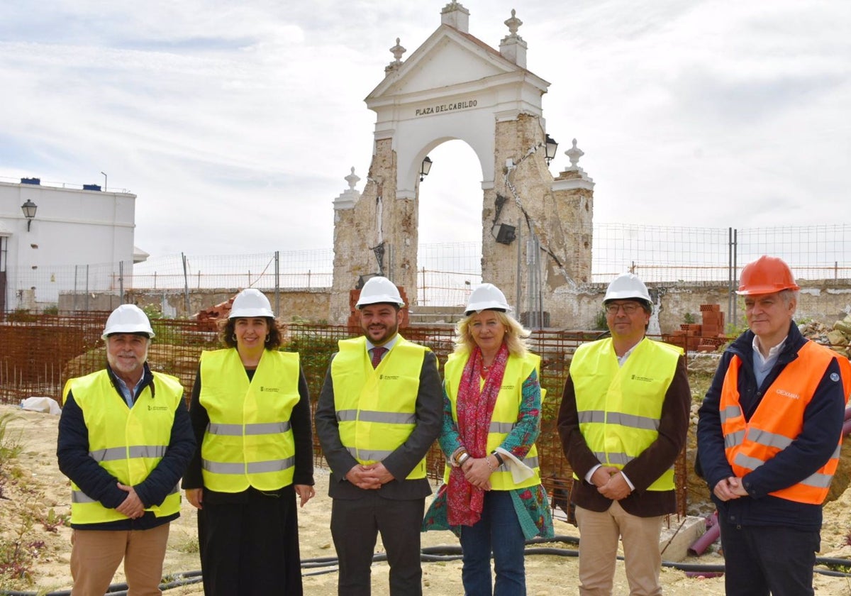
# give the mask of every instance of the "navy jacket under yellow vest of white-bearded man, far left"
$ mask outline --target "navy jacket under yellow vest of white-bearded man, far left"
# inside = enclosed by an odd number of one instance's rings
[[[115,388],[112,397],[126,405],[124,396],[118,389],[119,381],[109,365],[106,366],[106,370]],[[149,385],[153,392],[153,380],[151,369],[146,363],[144,378],[137,394]],[[157,398],[156,394],[154,398]],[[171,427],[171,437],[168,440],[165,456],[145,480],[134,486],[136,494],[145,507],[162,503],[168,493],[174,490],[194,452],[195,436],[192,434],[189,412],[186,410],[184,400],[180,399],[177,410],[174,410],[174,424]],[[59,459],[60,471],[73,480],[86,495],[100,501],[104,507],[114,509],[127,498],[127,493],[117,486],[118,479],[89,456],[89,428],[86,427],[86,421],[83,419],[83,410],[77,405],[71,392],[68,393],[60,416],[56,456]],[[70,496],[70,487],[68,490]],[[146,511],[139,519],[119,519],[103,524],[72,524],[72,527],[77,530],[150,530],[176,519],[179,515],[174,513],[174,515],[157,518],[153,512]]]

